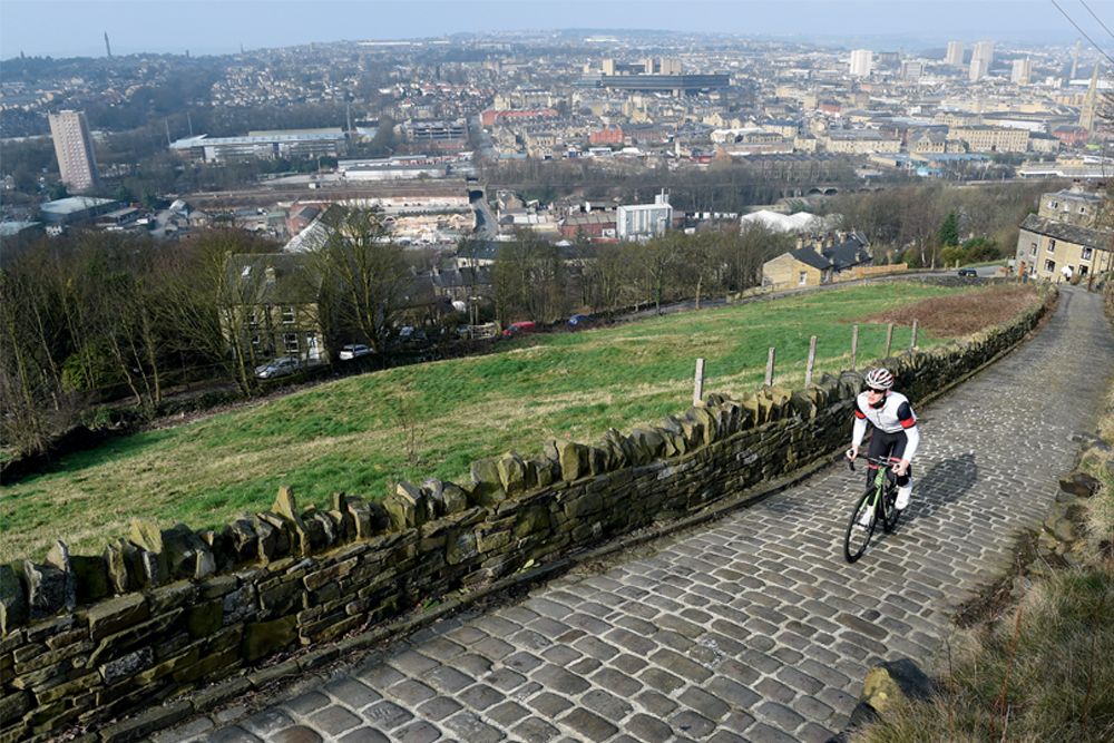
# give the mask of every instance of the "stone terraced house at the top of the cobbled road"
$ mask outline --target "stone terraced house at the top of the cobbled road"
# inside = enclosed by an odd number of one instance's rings
[[[1114,231],[1103,218],[1106,197],[1076,183],[1040,196],[1017,235],[1017,272],[1048,281],[1085,280],[1114,267]],[[1105,223],[1105,224],[1104,224]]]

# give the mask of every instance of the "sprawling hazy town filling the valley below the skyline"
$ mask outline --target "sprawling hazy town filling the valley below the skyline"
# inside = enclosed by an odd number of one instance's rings
[[[1088,180],[1111,166],[1110,84],[1079,45],[905,53],[559,32],[194,58],[114,57],[106,33],[105,52],[2,62],[4,236],[223,223],[290,239],[307,207],[358,199],[413,245],[515,228],[622,239],[676,216],[620,218],[636,193],[628,206],[667,189],[673,209],[710,219],[867,184]],[[716,169],[770,187],[702,201],[700,174]],[[492,186],[524,205],[489,221],[469,183],[491,206]]]

